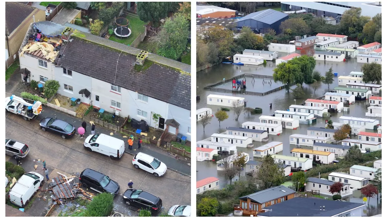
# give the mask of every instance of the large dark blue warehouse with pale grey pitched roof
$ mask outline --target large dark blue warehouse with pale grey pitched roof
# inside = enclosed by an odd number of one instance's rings
[[[281,33],[279,25],[288,18],[288,14],[273,9],[266,9],[238,19],[236,21],[236,27],[242,28],[248,26],[252,29],[258,29],[258,33],[266,33],[269,29],[274,29],[279,34]]]

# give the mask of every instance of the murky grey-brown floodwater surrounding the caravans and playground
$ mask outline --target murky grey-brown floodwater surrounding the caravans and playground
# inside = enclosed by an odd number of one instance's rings
[[[319,70],[321,75],[324,76],[325,72],[332,67],[334,73],[337,73],[338,76],[349,76],[351,71],[361,71],[361,66],[363,63],[357,63],[355,59],[349,59],[346,62],[324,62],[324,61],[316,61],[316,70]],[[238,76],[240,74],[260,74],[260,75],[272,75],[273,69],[275,68],[275,64],[273,62],[268,61],[266,66],[238,66],[238,65],[229,65],[229,64],[219,64],[210,69],[206,69],[204,71],[200,71],[197,73],[197,95],[200,96],[200,100],[197,101],[197,109],[202,107],[209,107],[212,109],[213,114],[216,111],[220,110],[221,106],[208,105],[207,106],[207,95],[215,94],[215,95],[228,95],[228,96],[236,96],[236,97],[244,97],[245,101],[247,101],[247,107],[260,107],[262,108],[262,114],[250,115],[240,114],[239,119],[236,121],[235,114],[233,111],[229,111],[229,118],[225,121],[221,122],[221,126],[219,127],[219,121],[215,117],[212,118],[210,124],[205,126],[205,131],[203,132],[203,126],[197,122],[197,140],[203,140],[205,138],[210,137],[213,133],[222,133],[226,131],[226,127],[241,127],[242,123],[246,121],[255,121],[259,122],[259,117],[261,115],[271,115],[274,114],[276,110],[286,110],[289,109],[291,104],[301,104],[306,99],[318,98],[324,96],[324,93],[333,90],[334,87],[338,86],[337,77],[334,78],[333,84],[325,85],[321,83],[321,87],[316,90],[314,93],[313,88],[309,85],[303,84],[305,95],[301,99],[294,100],[294,97],[291,95],[291,91],[288,93],[286,90],[279,90],[278,92],[274,92],[265,96],[254,96],[254,95],[243,95],[243,94],[234,94],[234,93],[219,93],[212,92],[209,90],[204,90],[203,87],[209,84],[214,84],[219,81],[222,81],[223,78],[232,78],[233,76]],[[261,85],[262,81],[260,81]],[[251,84],[251,83],[250,83]],[[255,84],[258,84],[257,81]],[[246,83],[247,88],[249,83]],[[272,83],[273,85],[273,83]],[[231,84],[229,84],[231,87]],[[266,86],[266,84],[265,84]],[[231,87],[232,88],[232,87]],[[294,88],[294,87],[292,87]],[[272,103],[272,108],[270,109],[269,104]],[[339,112],[339,113],[331,113],[332,121],[338,122],[338,118],[340,116],[353,116],[353,117],[362,117],[366,118],[365,113],[367,112],[366,101],[356,101],[355,104],[351,104],[349,106],[349,112]],[[381,118],[372,118],[378,119],[379,124],[382,123]],[[325,119],[318,118],[317,123],[313,125],[300,124],[300,127],[296,130],[285,129],[283,128],[283,133],[279,136],[269,135],[268,142],[254,142],[254,147],[251,148],[240,148],[237,147],[238,151],[248,153],[250,158],[253,157],[252,149],[255,147],[259,147],[261,145],[267,144],[272,141],[283,142],[283,154],[289,155],[291,149],[295,147],[295,145],[289,145],[289,136],[292,134],[306,134],[309,126],[315,127],[324,127]],[[372,131],[372,130],[366,130]],[[353,137],[353,136],[352,136]],[[312,149],[312,147],[306,147],[308,149]],[[241,173],[244,175],[244,172]],[[216,170],[215,161],[202,161],[197,162],[197,180],[201,180],[207,178],[209,176],[215,176],[219,178],[220,187],[224,187],[226,184],[229,184],[229,180],[224,177],[222,171]],[[233,180],[238,180],[238,176],[236,176]],[[361,197],[352,196],[351,199],[353,201],[358,200],[362,201]],[[371,199],[372,201],[372,199]],[[376,201],[376,200],[375,200]],[[376,202],[375,202],[376,205]],[[371,204],[372,206],[372,204]]]

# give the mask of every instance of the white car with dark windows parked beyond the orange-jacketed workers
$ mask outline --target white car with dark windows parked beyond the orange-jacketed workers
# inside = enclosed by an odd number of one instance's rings
[[[154,176],[164,176],[167,171],[167,166],[163,162],[142,152],[137,153],[133,157],[132,164],[134,168],[140,168],[148,173],[152,173]]]

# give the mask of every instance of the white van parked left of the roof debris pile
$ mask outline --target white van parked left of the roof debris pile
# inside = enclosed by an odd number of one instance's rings
[[[9,191],[10,202],[24,208],[34,196],[34,193],[42,187],[43,181],[44,177],[39,173],[29,172],[22,175]]]

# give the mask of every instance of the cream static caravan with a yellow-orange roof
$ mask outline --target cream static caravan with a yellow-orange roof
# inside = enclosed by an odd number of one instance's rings
[[[335,153],[329,151],[294,148],[291,150],[291,154],[293,157],[305,157],[322,164],[330,164],[335,160]]]

